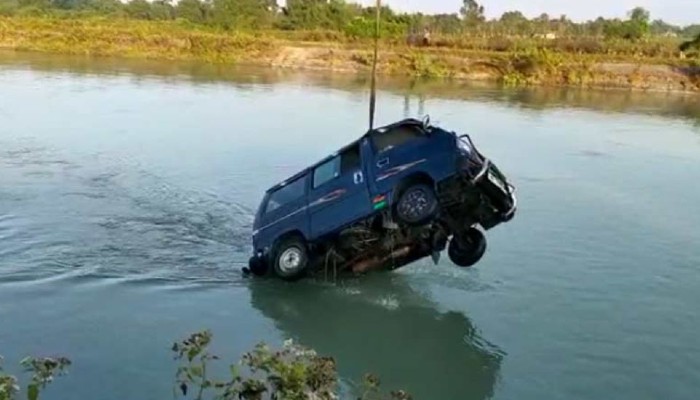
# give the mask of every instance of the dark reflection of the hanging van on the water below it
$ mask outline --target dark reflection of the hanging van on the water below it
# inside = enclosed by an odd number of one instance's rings
[[[462,313],[439,312],[407,277],[347,283],[251,279],[252,306],[285,338],[335,358],[341,380],[376,374],[384,390],[415,399],[493,397],[505,353]]]

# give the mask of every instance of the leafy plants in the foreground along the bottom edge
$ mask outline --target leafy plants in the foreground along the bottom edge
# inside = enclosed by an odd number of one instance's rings
[[[212,363],[219,357],[211,354],[208,346],[212,341],[210,331],[196,332],[173,344],[175,360],[179,362],[175,374],[174,395],[185,399],[220,400],[331,400],[338,399],[338,376],[335,360],[320,356],[314,350],[292,341],[284,343],[282,349],[270,349],[264,343],[243,355],[242,359],[229,366],[228,376],[214,379]],[[46,386],[55,377],[67,373],[71,360],[67,358],[26,358],[21,365],[30,374],[24,390],[17,377],[2,369],[0,357],[0,400],[17,400],[23,392],[27,400],[37,400]],[[244,369],[244,371],[241,371]],[[403,391],[388,395],[380,391],[379,379],[367,374],[363,379],[360,400],[393,399],[409,400]]]

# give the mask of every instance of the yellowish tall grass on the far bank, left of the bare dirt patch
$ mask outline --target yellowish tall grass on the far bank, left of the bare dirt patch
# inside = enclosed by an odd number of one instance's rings
[[[274,40],[184,21],[0,18],[0,46],[70,54],[235,62],[275,49]]]

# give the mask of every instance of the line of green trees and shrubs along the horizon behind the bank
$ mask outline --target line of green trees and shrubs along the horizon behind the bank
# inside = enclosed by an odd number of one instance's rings
[[[426,15],[399,13],[382,6],[381,34],[394,42],[405,42],[409,35],[422,35],[427,29],[433,38],[451,36],[449,43],[454,44],[466,39],[524,39],[533,35],[638,41],[650,35],[680,33],[690,38],[700,33],[700,25],[681,28],[662,20],[651,22],[649,12],[641,7],[632,9],[627,20],[599,17],[582,23],[565,15],[542,14],[528,19],[520,11],[488,20],[484,6],[476,0],[463,0],[456,11]],[[374,32],[374,8],[351,0],[287,0],[283,8],[275,0],[0,0],[0,15],[66,13],[76,18],[125,15],[143,20],[181,19],[226,30],[333,31],[348,40],[367,39]]]

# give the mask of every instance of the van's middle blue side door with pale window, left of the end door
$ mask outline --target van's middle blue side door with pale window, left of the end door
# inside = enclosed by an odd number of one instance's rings
[[[371,213],[359,143],[319,164],[311,174],[309,215],[313,238]]]

